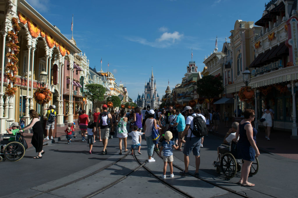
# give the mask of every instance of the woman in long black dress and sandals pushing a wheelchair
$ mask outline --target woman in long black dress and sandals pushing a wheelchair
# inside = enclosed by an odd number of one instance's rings
[[[24,131],[32,127],[33,136],[31,144],[34,146],[36,153],[38,153],[38,155],[33,159],[41,159],[42,154],[44,154],[44,150],[42,150],[42,145],[44,143],[44,130],[42,129],[40,120],[38,119],[38,113],[35,110],[31,109],[29,111],[29,115],[31,118],[30,124],[20,130]]]

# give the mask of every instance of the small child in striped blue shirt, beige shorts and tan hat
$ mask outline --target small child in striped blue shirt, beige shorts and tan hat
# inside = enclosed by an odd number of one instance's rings
[[[167,131],[164,133],[164,138],[166,140],[162,141],[162,145],[160,146],[160,151],[159,151],[159,156],[161,156],[161,153],[163,151],[163,156],[164,156],[164,171],[162,178],[166,178],[166,171],[167,171],[167,163],[169,162],[170,166],[170,177],[173,178],[173,148],[177,149],[178,146],[175,145],[175,142],[171,141],[173,138],[173,134],[170,131]]]

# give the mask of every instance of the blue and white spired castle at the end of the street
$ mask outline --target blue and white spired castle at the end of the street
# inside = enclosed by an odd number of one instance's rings
[[[159,107],[160,103],[161,102],[159,99],[159,95],[156,91],[156,81],[154,80],[152,68],[151,78],[149,78],[148,83],[145,82],[145,91],[142,94],[142,96],[138,94],[136,105],[142,108],[147,107],[147,105],[150,105],[151,108],[155,109]]]

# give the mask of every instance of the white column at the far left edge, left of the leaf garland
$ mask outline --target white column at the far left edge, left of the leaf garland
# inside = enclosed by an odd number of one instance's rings
[[[7,32],[3,31],[1,32],[3,35],[3,45],[2,45],[2,62],[1,62],[1,90],[0,90],[0,133],[5,130],[5,118],[3,117],[4,113],[4,92],[3,92],[3,83],[4,83],[4,60],[5,60],[5,41],[6,41],[6,35]],[[7,114],[5,114],[7,115]]]

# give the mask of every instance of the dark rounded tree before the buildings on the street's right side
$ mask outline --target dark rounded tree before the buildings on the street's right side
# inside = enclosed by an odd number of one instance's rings
[[[212,99],[217,97],[224,91],[224,86],[222,81],[222,76],[207,75],[203,76],[197,81],[197,93],[200,97],[206,97],[207,99]]]

